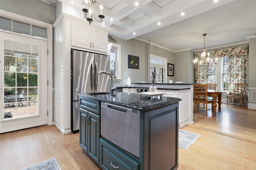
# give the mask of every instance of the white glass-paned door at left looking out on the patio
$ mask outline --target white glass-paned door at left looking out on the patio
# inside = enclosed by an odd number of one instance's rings
[[[0,32],[0,133],[47,124],[47,41]]]

